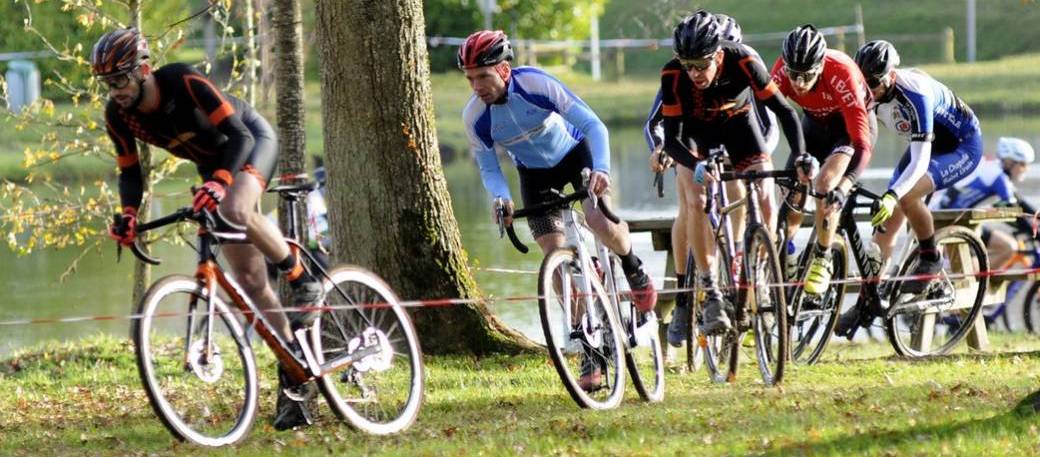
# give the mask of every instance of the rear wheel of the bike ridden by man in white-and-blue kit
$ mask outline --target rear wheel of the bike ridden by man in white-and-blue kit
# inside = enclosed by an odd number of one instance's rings
[[[956,272],[953,271],[953,264],[948,255],[943,255],[943,271],[947,271],[950,274],[958,273],[979,273],[986,272],[989,270],[989,260],[986,248],[979,236],[974,234],[973,231],[965,227],[943,227],[942,229],[935,232],[935,244],[940,249],[944,247],[948,248],[951,245],[956,246],[957,244],[964,244],[969,253],[971,254],[971,259],[973,259],[973,264],[970,265],[971,272]],[[955,248],[957,249],[957,248]],[[905,276],[909,274],[910,270],[916,263],[918,257],[918,250],[914,247],[910,251],[910,255],[907,256],[906,260],[903,262],[903,266],[900,269],[900,276]],[[963,269],[963,265],[961,265]],[[955,279],[958,280],[958,279]],[[968,332],[973,327],[976,320],[979,318],[979,313],[982,312],[983,300],[986,296],[986,287],[989,284],[989,277],[985,275],[971,276],[970,279],[959,280],[961,282],[970,285],[971,281],[976,281],[978,289],[974,294],[971,306],[966,308],[966,312],[956,312],[965,308],[954,308],[952,309],[955,313],[948,316],[935,318],[936,313],[932,312],[917,312],[914,313],[911,308],[914,302],[900,302],[903,282],[894,282],[890,287],[889,291],[889,304],[892,308],[890,309],[890,315],[885,319],[885,332],[888,335],[888,340],[891,342],[892,348],[895,352],[904,357],[916,358],[925,357],[931,355],[942,355],[947,354],[953,351],[967,336]],[[932,281],[938,284],[940,287],[946,287],[951,290],[938,290],[936,285],[930,285],[930,291],[926,300],[939,301],[943,298],[948,298],[948,301],[956,303],[959,301],[957,299],[957,287],[953,285],[952,280],[943,281]],[[964,299],[968,299],[970,291],[965,295]],[[908,309],[908,311],[903,312],[902,309]],[[941,312],[941,310],[939,311]],[[915,320],[910,322],[910,320]],[[940,327],[941,326],[941,327]],[[945,342],[941,344],[935,349],[916,349],[914,346],[920,346],[925,342],[930,342],[935,339],[935,329],[941,328],[946,331],[952,331],[948,336],[946,336]],[[909,338],[909,339],[908,339]],[[916,342],[915,342],[916,340]],[[931,345],[929,344],[929,347]]]

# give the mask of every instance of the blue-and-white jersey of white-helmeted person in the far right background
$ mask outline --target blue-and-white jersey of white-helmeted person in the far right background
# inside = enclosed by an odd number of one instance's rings
[[[939,196],[936,196],[939,197]],[[954,187],[946,189],[939,199],[941,209],[977,208],[997,203],[1015,205],[1015,183],[1004,173],[999,160],[983,160],[972,173]]]

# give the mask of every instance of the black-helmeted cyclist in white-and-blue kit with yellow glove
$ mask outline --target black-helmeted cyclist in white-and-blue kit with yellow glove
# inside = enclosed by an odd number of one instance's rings
[[[929,194],[954,185],[970,175],[982,159],[982,130],[974,112],[953,91],[918,70],[895,69],[895,48],[885,41],[863,45],[856,64],[866,77],[878,120],[910,141],[895,168],[870,223],[884,225],[875,242],[887,259],[905,220],[918,243],[919,260],[911,275],[935,275],[942,266],[935,245],[935,225],[925,203]],[[911,280],[901,290],[919,294],[928,280]],[[847,312],[835,331],[846,334],[857,321],[856,309]],[[877,312],[878,310],[869,310]]]

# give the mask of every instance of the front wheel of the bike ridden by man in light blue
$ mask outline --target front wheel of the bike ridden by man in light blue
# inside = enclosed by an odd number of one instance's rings
[[[538,275],[542,330],[556,374],[574,402],[582,408],[614,408],[625,388],[623,330],[613,306],[584,289],[584,275],[590,272],[580,263],[566,248],[542,260]]]

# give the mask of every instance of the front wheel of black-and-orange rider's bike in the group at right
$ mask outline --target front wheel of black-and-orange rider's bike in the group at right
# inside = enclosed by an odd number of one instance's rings
[[[745,245],[744,312],[748,313],[754,332],[755,356],[762,382],[776,385],[783,380],[789,344],[783,274],[777,261],[776,246],[764,226],[751,228]]]

